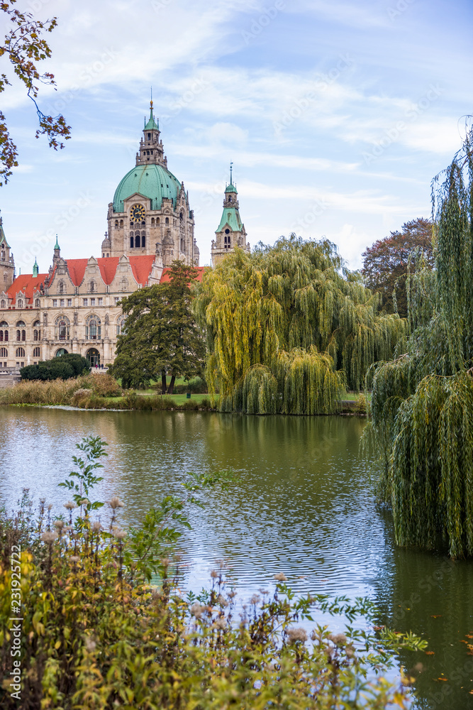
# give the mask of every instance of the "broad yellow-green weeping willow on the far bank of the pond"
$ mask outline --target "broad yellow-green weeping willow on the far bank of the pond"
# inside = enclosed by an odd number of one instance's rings
[[[194,309],[206,328],[206,379],[223,411],[320,414],[392,356],[406,332],[348,272],[329,241],[282,237],[235,250],[208,271]]]

